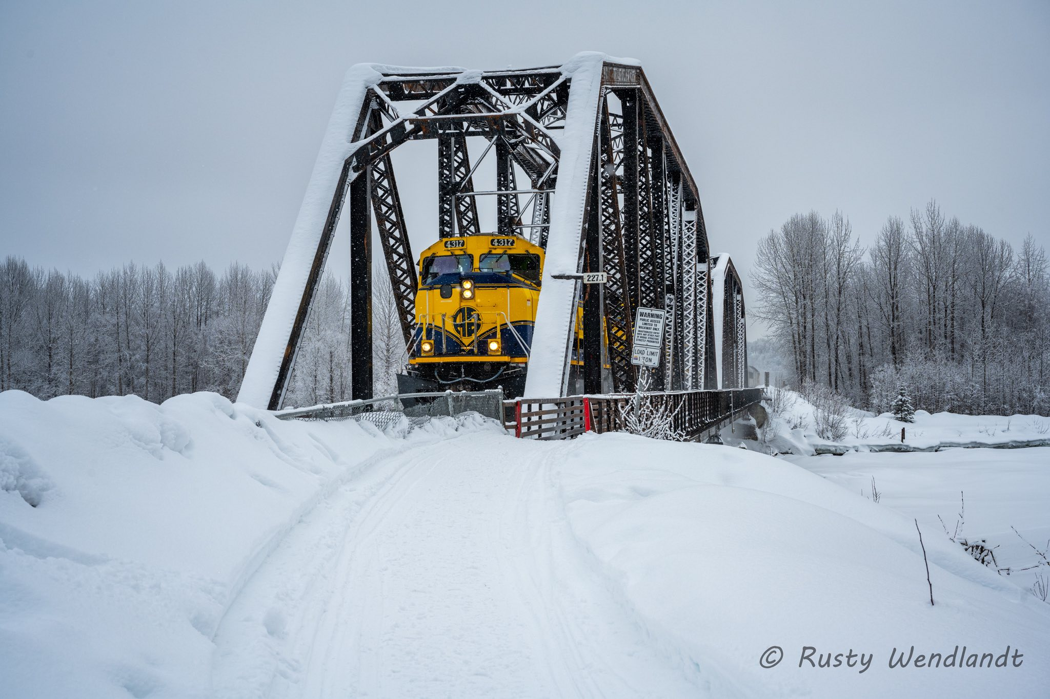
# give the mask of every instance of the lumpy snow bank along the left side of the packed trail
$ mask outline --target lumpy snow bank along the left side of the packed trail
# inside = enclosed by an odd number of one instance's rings
[[[460,429],[398,440],[209,393],[0,393],[0,695],[209,696],[220,619],[302,514]]]

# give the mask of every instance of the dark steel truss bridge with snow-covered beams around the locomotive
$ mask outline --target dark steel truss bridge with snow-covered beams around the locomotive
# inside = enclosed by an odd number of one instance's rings
[[[522,70],[362,64],[348,72],[238,400],[281,407],[344,210],[352,397],[372,395],[374,254],[386,263],[408,345],[418,280],[391,155],[426,139],[438,147],[437,236],[482,233],[478,198],[495,197],[497,232],[546,250],[526,396],[574,392],[569,366],[579,305],[584,393],[608,392],[604,364],[612,392],[638,386],[631,364],[638,307],[667,311],[650,390],[747,385],[740,278],[728,255],[710,253],[696,181],[649,81],[640,65],[582,53],[562,66]],[[474,161],[468,141],[475,153],[480,148]],[[496,181],[479,189],[486,157],[495,159]],[[586,271],[607,272],[607,283],[581,283]]]

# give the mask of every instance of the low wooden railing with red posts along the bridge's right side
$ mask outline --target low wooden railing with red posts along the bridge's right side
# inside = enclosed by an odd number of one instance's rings
[[[517,437],[568,439],[584,432],[625,430],[624,409],[630,395],[565,398],[519,398],[504,401],[504,424]],[[671,415],[675,431],[701,439],[738,418],[762,399],[762,389],[647,393],[644,400]]]

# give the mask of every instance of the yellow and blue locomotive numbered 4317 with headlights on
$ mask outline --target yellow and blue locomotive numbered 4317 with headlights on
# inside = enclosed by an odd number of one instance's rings
[[[521,395],[543,260],[543,248],[519,236],[444,238],[423,250],[399,391],[502,386]]]

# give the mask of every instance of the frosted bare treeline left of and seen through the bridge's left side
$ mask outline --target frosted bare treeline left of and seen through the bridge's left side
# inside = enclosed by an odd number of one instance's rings
[[[400,330],[390,282],[381,271],[374,277],[376,389],[384,391],[403,348],[391,343]],[[216,275],[198,262],[174,270],[126,264],[84,279],[7,257],[0,264],[0,390],[156,402],[215,391],[233,399],[275,278],[276,268],[234,263]],[[348,320],[346,286],[326,277],[286,403],[350,397]]]

